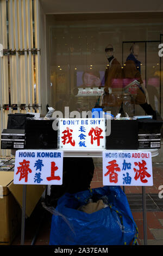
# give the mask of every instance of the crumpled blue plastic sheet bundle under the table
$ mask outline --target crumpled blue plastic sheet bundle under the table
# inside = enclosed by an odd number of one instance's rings
[[[105,198],[108,207],[92,214],[77,210],[95,195]],[[126,194],[120,186],[104,186],[66,193],[58,200],[49,245],[129,245],[136,243],[137,235]]]

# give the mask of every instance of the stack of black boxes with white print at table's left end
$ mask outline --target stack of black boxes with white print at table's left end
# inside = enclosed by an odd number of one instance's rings
[[[25,130],[4,129],[1,133],[2,149],[24,149],[26,144]]]

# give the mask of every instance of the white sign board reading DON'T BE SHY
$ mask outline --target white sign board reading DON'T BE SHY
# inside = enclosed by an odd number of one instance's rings
[[[105,119],[59,119],[59,148],[64,150],[105,149]]]

